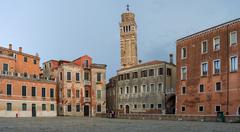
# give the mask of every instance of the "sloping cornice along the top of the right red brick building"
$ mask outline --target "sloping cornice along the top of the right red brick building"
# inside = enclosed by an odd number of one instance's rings
[[[208,31],[210,31],[210,30],[214,30],[214,29],[217,29],[217,28],[226,26],[226,25],[230,25],[230,24],[236,23],[236,22],[240,22],[240,18],[237,18],[237,19],[234,19],[234,20],[231,20],[231,21],[228,21],[228,22],[219,24],[219,25],[217,25],[217,26],[213,26],[213,27],[207,28],[207,29],[205,29],[205,30],[196,32],[196,33],[194,33],[194,34],[188,35],[188,36],[183,37],[183,38],[180,38],[180,39],[177,40],[177,42],[178,42],[178,41],[184,41],[184,40],[189,39],[189,38],[191,38],[191,37],[194,37],[194,36],[197,36],[197,35],[206,33],[206,32],[208,32]]]

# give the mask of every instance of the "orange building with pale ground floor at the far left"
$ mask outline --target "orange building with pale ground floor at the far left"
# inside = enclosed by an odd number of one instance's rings
[[[38,54],[0,47],[0,117],[56,116],[56,83],[42,79]]]

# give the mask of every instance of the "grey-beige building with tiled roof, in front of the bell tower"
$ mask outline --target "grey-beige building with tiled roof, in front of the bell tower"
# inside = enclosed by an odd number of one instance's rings
[[[162,61],[118,71],[119,113],[174,114],[176,66]]]

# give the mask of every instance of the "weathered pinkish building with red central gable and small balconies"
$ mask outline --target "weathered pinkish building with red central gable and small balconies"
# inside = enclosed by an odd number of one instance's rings
[[[106,65],[85,55],[73,61],[44,63],[44,77],[57,81],[58,115],[96,116],[106,113]]]

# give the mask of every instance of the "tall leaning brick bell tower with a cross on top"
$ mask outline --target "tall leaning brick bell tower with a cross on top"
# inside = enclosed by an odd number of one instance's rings
[[[137,24],[134,13],[127,11],[121,15],[120,22],[121,68],[138,64],[137,56]]]

